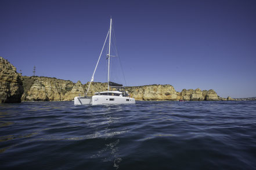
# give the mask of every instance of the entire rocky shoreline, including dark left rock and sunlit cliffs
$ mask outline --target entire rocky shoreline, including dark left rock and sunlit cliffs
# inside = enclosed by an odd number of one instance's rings
[[[15,66],[0,57],[0,103],[20,101],[72,101],[74,97],[84,95],[88,83],[80,81],[56,79],[55,77],[21,76]],[[106,91],[107,83],[92,82],[88,95],[98,91]],[[183,89],[178,92],[170,84],[153,84],[146,86],[126,87],[131,97],[144,101],[226,101],[235,100],[230,97],[221,98],[214,90],[200,88]]]

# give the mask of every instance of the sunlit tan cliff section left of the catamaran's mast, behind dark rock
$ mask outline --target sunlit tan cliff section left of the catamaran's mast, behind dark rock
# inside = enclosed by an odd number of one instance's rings
[[[74,97],[84,96],[89,83],[80,81],[73,83],[70,80],[54,77],[23,76],[23,101],[71,101]],[[91,83],[88,96],[97,91],[106,91],[107,83]]]

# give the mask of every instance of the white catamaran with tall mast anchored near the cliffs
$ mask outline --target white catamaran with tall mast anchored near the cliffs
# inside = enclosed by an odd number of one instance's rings
[[[124,86],[122,84],[110,82],[110,57],[115,57],[110,55],[111,49],[111,29],[112,29],[112,19],[110,19],[110,28],[107,32],[107,37],[104,41],[104,45],[102,47],[102,51],[100,52],[99,59],[97,61],[96,67],[92,74],[92,79],[89,83],[87,88],[85,97],[75,97],[74,98],[74,105],[109,105],[109,104],[135,104],[135,99],[131,98],[128,91],[125,91]],[[109,38],[109,50],[107,53],[107,60],[108,60],[108,69],[107,69],[107,91],[100,91],[96,92],[95,95],[92,97],[87,97],[89,88],[91,83],[93,82],[94,75],[97,69],[97,66],[100,61],[100,57],[102,56],[102,52],[104,46],[106,44],[107,38]]]

